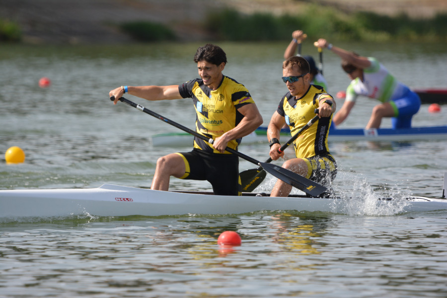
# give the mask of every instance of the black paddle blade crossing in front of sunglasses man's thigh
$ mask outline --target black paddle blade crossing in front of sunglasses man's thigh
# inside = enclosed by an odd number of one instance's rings
[[[259,165],[273,176],[283,180],[287,184],[298,188],[299,190],[302,190],[312,197],[318,197],[327,190],[326,187],[278,165],[265,162],[259,162]]]

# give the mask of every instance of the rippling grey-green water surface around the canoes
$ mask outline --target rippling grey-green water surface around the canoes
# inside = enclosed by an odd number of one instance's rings
[[[178,130],[124,104],[120,85],[178,84],[197,77],[201,44],[0,47],[0,152],[19,146],[23,164],[0,162],[0,189],[149,187],[159,156],[150,136]],[[224,74],[245,84],[267,125],[283,94],[282,43],[221,44]],[[445,88],[445,46],[341,44],[374,56],[411,87]],[[303,54],[317,52],[303,46]],[[346,88],[339,59],[323,53],[333,95]],[[49,88],[39,88],[42,76]],[[191,101],[133,101],[189,128]],[[339,106],[342,100],[337,100]],[[359,101],[343,127],[364,127],[375,102]],[[447,125],[423,105],[415,126]],[[383,127],[390,127],[385,120]],[[446,297],[447,214],[399,213],[367,203],[377,196],[439,197],[447,141],[333,143],[336,190],[355,200],[346,214],[256,212],[177,217],[9,219],[0,223],[1,297]],[[265,144],[241,145],[259,160]],[[240,161],[240,169],[254,165]],[[258,190],[270,191],[268,176]],[[209,190],[171,180],[172,189]],[[297,191],[299,192],[299,191]],[[220,247],[224,230],[242,245]]]

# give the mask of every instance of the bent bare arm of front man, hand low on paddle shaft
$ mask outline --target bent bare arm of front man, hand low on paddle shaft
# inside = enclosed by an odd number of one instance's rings
[[[263,122],[261,113],[259,113],[258,107],[254,103],[243,105],[237,111],[244,117],[236,127],[214,140],[214,149],[224,152],[229,141],[245,137],[254,132]]]

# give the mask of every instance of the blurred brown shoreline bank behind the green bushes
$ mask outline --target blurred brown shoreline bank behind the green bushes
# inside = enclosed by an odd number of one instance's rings
[[[19,24],[24,44],[135,42],[117,24],[136,20],[169,25],[179,41],[191,42],[213,40],[203,28],[209,11],[229,7],[242,13],[298,14],[309,2],[345,13],[405,13],[412,18],[447,12],[445,0],[0,0],[0,19]]]

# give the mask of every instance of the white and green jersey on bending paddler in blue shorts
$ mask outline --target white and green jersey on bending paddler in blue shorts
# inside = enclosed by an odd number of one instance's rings
[[[371,66],[363,70],[363,81],[357,77],[353,79],[346,90],[346,100],[356,101],[359,95],[388,102],[405,95],[408,87],[399,82],[386,68],[369,57]]]

